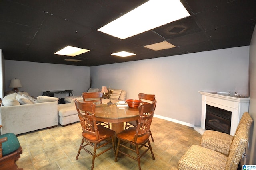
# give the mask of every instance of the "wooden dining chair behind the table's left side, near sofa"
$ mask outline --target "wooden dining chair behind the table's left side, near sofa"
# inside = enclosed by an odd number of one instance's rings
[[[83,101],[84,102],[93,102],[94,104],[102,104],[102,92],[84,92],[82,93]],[[108,126],[108,129],[110,129],[110,124],[102,121],[97,121],[97,125]]]

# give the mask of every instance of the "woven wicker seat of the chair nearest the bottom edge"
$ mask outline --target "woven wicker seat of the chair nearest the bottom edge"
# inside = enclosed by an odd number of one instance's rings
[[[192,145],[178,162],[179,170],[224,170],[228,157],[214,150]]]

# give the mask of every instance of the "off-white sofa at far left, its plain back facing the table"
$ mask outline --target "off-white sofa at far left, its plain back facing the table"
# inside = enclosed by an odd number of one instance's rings
[[[15,96],[15,94],[12,95]],[[5,98],[6,96],[3,98],[3,104],[6,104]],[[12,102],[10,99],[8,100],[9,104],[13,104],[12,106],[6,104],[6,106],[0,107],[0,124],[3,125],[1,134],[14,133],[17,135],[58,125],[58,98],[40,96],[39,103],[31,104],[18,104],[14,99]]]

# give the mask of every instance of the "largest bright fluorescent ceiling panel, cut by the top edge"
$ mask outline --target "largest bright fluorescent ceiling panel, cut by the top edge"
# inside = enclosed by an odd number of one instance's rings
[[[180,0],[149,0],[98,31],[126,39],[187,16]]]

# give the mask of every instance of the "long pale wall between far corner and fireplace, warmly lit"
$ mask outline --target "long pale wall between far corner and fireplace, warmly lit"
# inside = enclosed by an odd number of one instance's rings
[[[92,87],[155,94],[156,115],[194,126],[201,123],[202,96],[218,91],[248,96],[249,46],[90,67]]]

